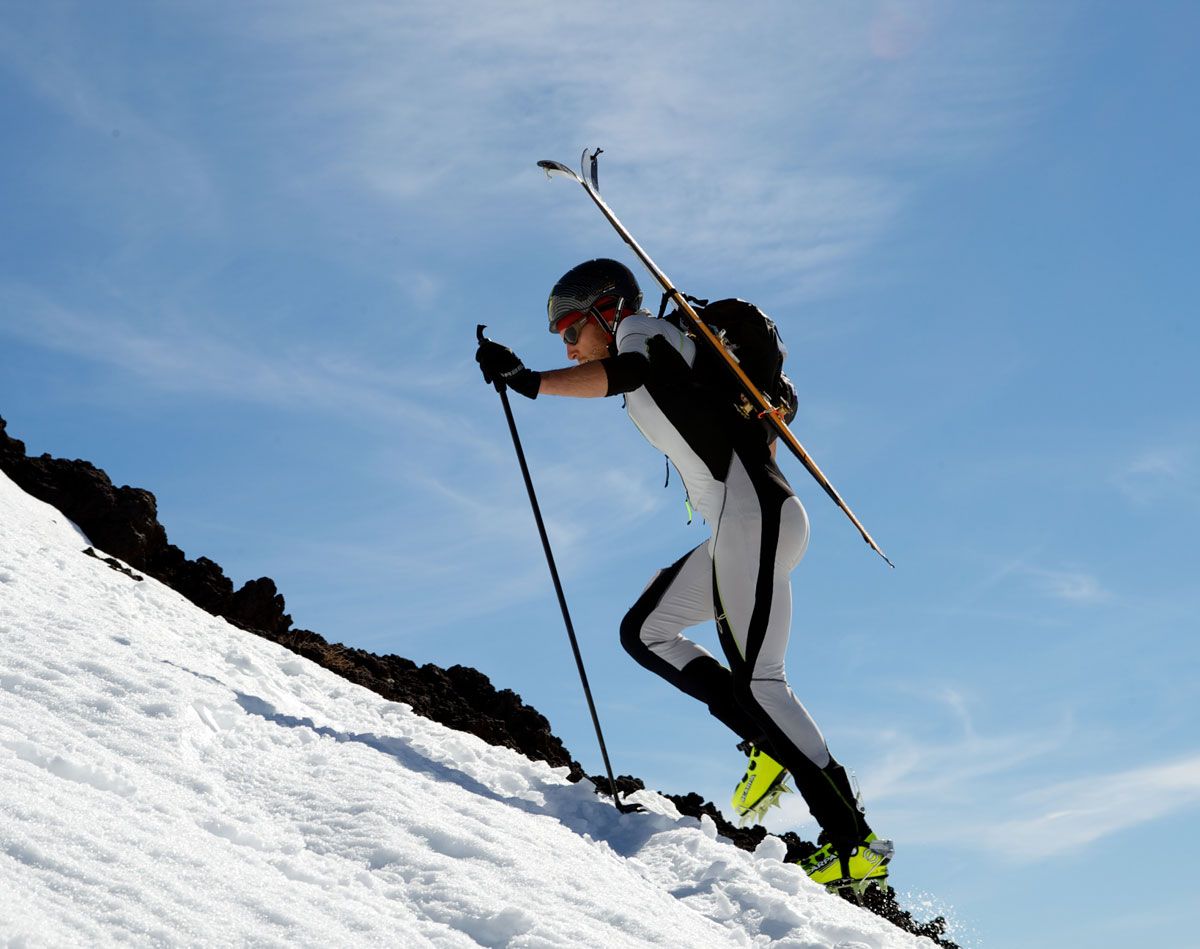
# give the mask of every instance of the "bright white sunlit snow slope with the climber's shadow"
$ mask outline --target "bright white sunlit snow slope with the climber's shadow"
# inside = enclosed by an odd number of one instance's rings
[[[0,474],[0,943],[932,947],[83,555]]]

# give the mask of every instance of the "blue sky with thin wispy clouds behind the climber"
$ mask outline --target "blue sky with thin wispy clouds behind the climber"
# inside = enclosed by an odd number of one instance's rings
[[[1183,2],[8,5],[0,414],[599,770],[473,340],[560,365],[550,284],[635,263],[534,167],[602,146],[678,284],[776,318],[898,565],[787,468],[790,675],[900,890],[968,943],[1152,944],[1200,843],[1198,47]],[[619,403],[518,402],[616,768],[724,801],[728,737],[616,632],[703,525]]]

